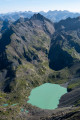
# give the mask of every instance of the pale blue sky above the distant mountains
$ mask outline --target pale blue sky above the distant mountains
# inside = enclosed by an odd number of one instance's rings
[[[80,0],[0,0],[0,13],[49,10],[80,12]]]

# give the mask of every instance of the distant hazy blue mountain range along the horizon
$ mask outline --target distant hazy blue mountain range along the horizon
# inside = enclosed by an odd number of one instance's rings
[[[18,20],[20,17],[23,18],[31,18],[31,16],[33,16],[34,14],[40,13],[43,16],[45,16],[46,18],[50,19],[53,22],[59,22],[61,19],[66,19],[68,17],[74,18],[74,17],[78,17],[80,16],[80,13],[73,13],[73,12],[69,12],[69,11],[48,11],[48,12],[32,12],[32,11],[25,11],[25,12],[13,12],[13,13],[7,13],[7,14],[0,14],[0,18],[5,20],[12,20],[12,21],[16,21]]]

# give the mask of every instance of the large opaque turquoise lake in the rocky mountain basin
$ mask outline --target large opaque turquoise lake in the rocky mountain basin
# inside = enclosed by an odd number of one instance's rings
[[[57,84],[45,83],[31,91],[27,103],[41,109],[55,109],[58,107],[62,95],[67,89]]]

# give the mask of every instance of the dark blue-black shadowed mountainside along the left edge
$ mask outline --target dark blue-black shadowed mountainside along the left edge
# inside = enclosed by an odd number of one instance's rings
[[[8,29],[3,35],[2,38],[0,40],[0,70],[4,76],[6,71],[6,75],[5,75],[5,82],[4,85],[2,87],[2,89],[5,92],[10,92],[10,82],[12,81],[12,79],[15,77],[14,71],[12,69],[12,61],[10,61],[7,58],[7,53],[6,53],[6,47],[11,43],[11,39],[10,36],[13,33],[13,30],[10,28]],[[1,78],[3,79],[3,78]],[[5,88],[4,88],[5,86]]]

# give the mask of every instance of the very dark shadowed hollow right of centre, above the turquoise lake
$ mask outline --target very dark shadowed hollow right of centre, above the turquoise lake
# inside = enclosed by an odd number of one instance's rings
[[[60,45],[51,46],[48,58],[50,68],[56,71],[70,67],[73,63],[71,55],[63,51]]]

